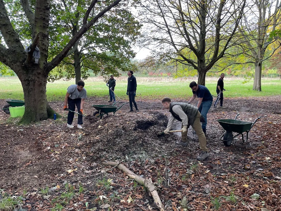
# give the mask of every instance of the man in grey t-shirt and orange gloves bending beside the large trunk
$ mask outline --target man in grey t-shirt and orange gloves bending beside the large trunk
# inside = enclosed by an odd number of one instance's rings
[[[67,109],[67,103],[68,108],[72,111],[75,111],[75,105],[77,107],[77,110],[80,114],[83,114],[83,106],[84,106],[84,99],[87,98],[87,92],[84,88],[85,83],[83,81],[78,81],[77,85],[73,84],[70,85],[67,88],[67,93],[64,98],[64,107],[63,110]],[[73,128],[72,121],[74,118],[74,113],[69,112],[67,115],[67,127]],[[78,115],[78,124],[77,128],[83,128],[83,116]]]

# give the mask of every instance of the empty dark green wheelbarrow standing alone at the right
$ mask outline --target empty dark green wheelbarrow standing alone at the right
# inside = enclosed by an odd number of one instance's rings
[[[258,119],[260,119],[260,117],[256,118],[256,120],[253,123],[244,122],[244,121],[236,120],[238,115],[239,114],[236,115],[235,119],[217,119],[219,124],[225,130],[224,133],[222,134],[222,136],[219,139],[221,141],[223,141],[223,143],[226,147],[229,147],[231,145],[233,139],[235,137],[239,136],[240,134],[242,135],[243,143],[246,143],[248,141],[248,134],[249,134],[250,129],[252,129],[252,127],[254,126],[254,123],[256,123],[256,121]],[[238,134],[233,136],[232,132],[235,132],[235,133],[238,133]],[[244,132],[247,133],[246,139],[244,139],[244,136],[243,136]]]

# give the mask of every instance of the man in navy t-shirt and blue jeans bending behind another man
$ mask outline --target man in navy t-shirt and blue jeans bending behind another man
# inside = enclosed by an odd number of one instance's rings
[[[191,103],[196,97],[198,97],[197,108],[205,119],[205,122],[202,123],[202,130],[206,135],[207,113],[212,106],[213,96],[207,87],[198,85],[195,81],[191,82],[189,87],[192,89],[193,96],[190,98],[188,103]]]

